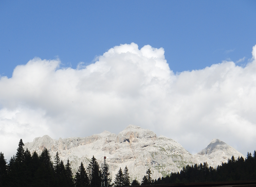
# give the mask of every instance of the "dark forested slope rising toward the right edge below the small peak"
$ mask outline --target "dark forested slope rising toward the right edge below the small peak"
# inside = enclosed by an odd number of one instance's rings
[[[154,184],[188,183],[188,182],[224,182],[256,180],[256,151],[253,156],[247,153],[246,158],[234,156],[216,167],[208,167],[207,162],[203,164],[187,165],[180,172],[174,172],[166,177],[154,180]]]

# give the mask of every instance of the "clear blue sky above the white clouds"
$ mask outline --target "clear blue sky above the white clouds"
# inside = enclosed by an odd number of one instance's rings
[[[0,75],[34,57],[76,68],[120,44],[165,49],[174,72],[251,57],[256,2],[1,1]],[[9,51],[10,50],[10,51]]]

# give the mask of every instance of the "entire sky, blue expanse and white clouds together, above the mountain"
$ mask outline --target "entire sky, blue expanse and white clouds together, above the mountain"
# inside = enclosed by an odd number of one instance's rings
[[[129,124],[256,149],[256,1],[0,1],[0,151]]]

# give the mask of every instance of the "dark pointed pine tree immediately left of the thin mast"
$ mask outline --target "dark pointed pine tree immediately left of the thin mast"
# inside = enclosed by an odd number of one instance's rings
[[[101,186],[101,171],[94,156],[91,158],[91,162],[87,167],[87,172],[91,187]]]

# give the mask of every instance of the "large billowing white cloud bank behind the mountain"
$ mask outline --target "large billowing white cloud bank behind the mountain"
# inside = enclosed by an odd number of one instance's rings
[[[174,74],[164,49],[115,46],[76,69],[32,59],[0,78],[0,141],[5,156],[20,138],[90,136],[138,125],[188,151],[219,138],[246,154],[256,147],[256,45],[245,67],[223,61]]]

